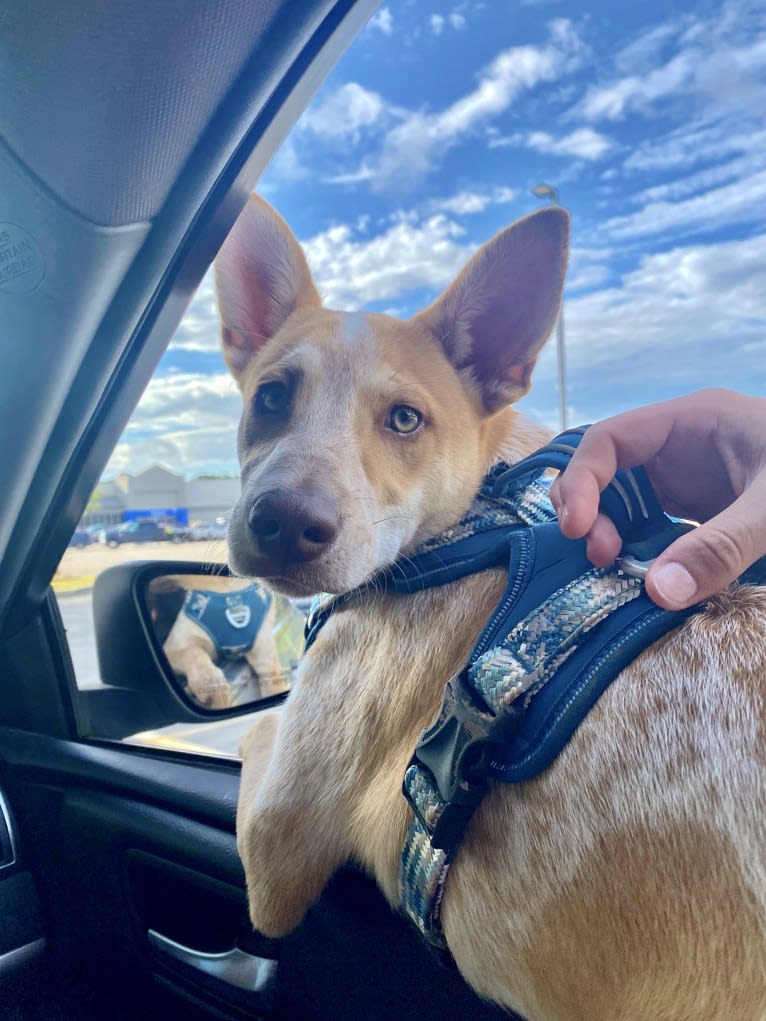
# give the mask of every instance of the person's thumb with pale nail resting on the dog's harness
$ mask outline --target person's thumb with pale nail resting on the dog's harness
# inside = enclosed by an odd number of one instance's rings
[[[666,610],[683,610],[721,592],[764,553],[766,478],[668,546],[647,574],[647,591]]]

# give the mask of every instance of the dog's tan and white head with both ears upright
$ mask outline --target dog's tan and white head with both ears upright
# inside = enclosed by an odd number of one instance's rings
[[[346,591],[465,514],[556,322],[568,232],[560,208],[519,221],[401,322],[323,308],[289,228],[250,198],[216,264],[244,401],[234,571]]]

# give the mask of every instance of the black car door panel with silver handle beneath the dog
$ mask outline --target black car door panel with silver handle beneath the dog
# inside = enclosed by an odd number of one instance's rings
[[[8,728],[0,728],[0,783],[22,806],[18,828],[39,878],[51,973],[79,1016],[507,1017],[481,1004],[352,868],[286,939],[252,932],[234,833],[236,765]],[[236,946],[278,965],[251,969],[260,981],[248,991],[199,960],[179,960],[169,940],[202,960]]]

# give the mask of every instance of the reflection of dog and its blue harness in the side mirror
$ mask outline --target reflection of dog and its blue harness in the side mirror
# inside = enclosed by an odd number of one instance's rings
[[[209,709],[283,690],[274,598],[252,579],[164,575],[149,585],[155,632],[174,672]],[[227,665],[245,662],[230,680]]]

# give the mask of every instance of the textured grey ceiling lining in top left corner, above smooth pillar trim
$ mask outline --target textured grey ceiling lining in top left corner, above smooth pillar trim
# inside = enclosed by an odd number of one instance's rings
[[[0,33],[0,134],[86,218],[104,226],[150,220],[288,6],[282,0],[11,4]],[[331,4],[312,6],[319,20]]]

